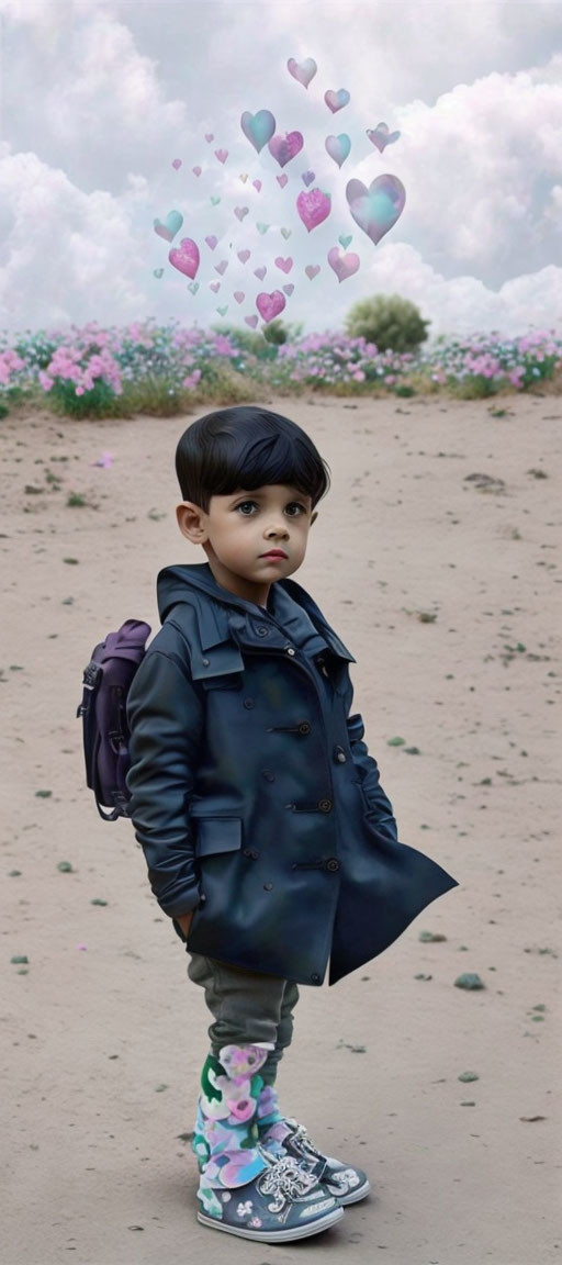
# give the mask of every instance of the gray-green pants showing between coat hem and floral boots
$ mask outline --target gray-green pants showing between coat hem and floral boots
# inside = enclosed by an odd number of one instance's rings
[[[292,1011],[299,1001],[295,980],[230,966],[195,953],[189,956],[187,974],[205,989],[205,1002],[214,1016],[209,1027],[211,1052],[218,1058],[223,1045],[271,1041],[275,1049],[270,1050],[259,1075],[272,1085],[277,1064],[292,1040]]]

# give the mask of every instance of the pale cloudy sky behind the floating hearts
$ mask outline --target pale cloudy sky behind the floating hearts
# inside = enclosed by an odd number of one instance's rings
[[[0,0],[0,328],[208,326],[219,307],[242,324],[294,286],[282,316],[308,333],[397,293],[430,336],[562,334],[558,0]],[[290,58],[316,63],[308,87]],[[324,94],[342,89],[333,113]],[[276,135],[301,133],[285,167],[242,130],[262,110]],[[382,152],[380,123],[400,133]],[[338,166],[325,140],[342,134]],[[381,176],[405,205],[375,244],[346,187]],[[296,199],[314,188],[330,214],[308,230]],[[172,210],[170,243],[154,220]],[[192,281],[168,261],[182,239]],[[334,247],[359,258],[343,281]]]

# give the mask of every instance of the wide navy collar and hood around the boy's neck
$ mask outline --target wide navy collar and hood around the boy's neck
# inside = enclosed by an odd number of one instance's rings
[[[263,646],[258,629],[267,626],[268,645],[282,646],[289,639],[299,648],[320,634],[338,658],[356,663],[306,589],[292,579],[271,586],[267,610],[223,588],[209,563],[167,567],[159,572],[157,587],[162,620],[176,602],[192,602],[204,651],[230,638],[239,646]]]

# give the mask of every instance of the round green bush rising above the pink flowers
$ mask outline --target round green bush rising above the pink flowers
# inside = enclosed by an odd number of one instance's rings
[[[408,299],[375,295],[353,305],[346,318],[346,333],[375,343],[378,352],[415,352],[428,338],[430,324]]]

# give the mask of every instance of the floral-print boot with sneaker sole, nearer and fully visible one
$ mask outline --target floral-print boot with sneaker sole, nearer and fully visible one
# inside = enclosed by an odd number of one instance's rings
[[[259,1068],[267,1054],[257,1045],[227,1045],[218,1058],[208,1056],[191,1149],[200,1174],[197,1221],[276,1243],[327,1230],[343,1208],[319,1183],[310,1157],[277,1155],[259,1141]]]

